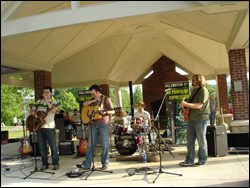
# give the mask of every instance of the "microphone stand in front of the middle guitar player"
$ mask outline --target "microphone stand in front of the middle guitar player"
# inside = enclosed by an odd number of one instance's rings
[[[85,178],[85,180],[87,180],[88,177],[89,177],[94,171],[113,173],[113,171],[101,170],[101,169],[96,169],[96,168],[95,168],[92,118],[94,117],[95,113],[97,112],[97,107],[100,105],[101,101],[102,101],[102,100],[99,100],[99,101],[98,101],[98,103],[97,103],[97,105],[96,105],[96,109],[92,111],[92,113],[91,113],[91,115],[90,115],[90,117],[89,117],[88,126],[91,127],[91,130],[90,130],[90,138],[91,138],[91,149],[92,149],[92,163],[93,163],[93,166],[92,166],[92,168],[90,169],[90,173],[87,175],[87,177]]]

